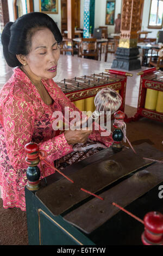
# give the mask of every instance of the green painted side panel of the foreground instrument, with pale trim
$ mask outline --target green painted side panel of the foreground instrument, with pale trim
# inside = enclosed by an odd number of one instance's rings
[[[95,245],[61,216],[54,216],[35,192],[25,188],[29,245]]]

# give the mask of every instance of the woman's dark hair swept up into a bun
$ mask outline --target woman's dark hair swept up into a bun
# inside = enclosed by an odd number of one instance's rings
[[[39,28],[47,27],[53,33],[55,40],[62,41],[62,35],[57,24],[45,13],[28,13],[15,22],[8,22],[1,35],[4,58],[9,66],[21,66],[16,54],[27,55],[30,50],[31,38]]]

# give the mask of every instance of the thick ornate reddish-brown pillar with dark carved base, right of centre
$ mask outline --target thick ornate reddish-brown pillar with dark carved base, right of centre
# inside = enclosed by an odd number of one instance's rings
[[[116,59],[111,68],[124,70],[141,69],[138,59],[137,31],[140,30],[143,0],[123,0],[121,15],[121,35],[116,51]]]

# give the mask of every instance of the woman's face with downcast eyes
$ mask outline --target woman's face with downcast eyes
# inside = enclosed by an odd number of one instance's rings
[[[60,49],[53,33],[42,28],[32,36],[32,46],[26,56],[26,71],[34,80],[52,79],[57,75],[57,63]]]

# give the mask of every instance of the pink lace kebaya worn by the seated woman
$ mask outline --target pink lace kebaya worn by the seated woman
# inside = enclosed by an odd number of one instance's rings
[[[70,112],[79,109],[61,92],[52,79],[41,81],[53,99],[52,105],[43,102],[34,84],[20,68],[14,69],[14,74],[1,89],[0,186],[5,209],[16,206],[23,211],[26,210],[24,186],[27,184],[28,166],[25,162],[24,146],[27,143],[33,141],[39,144],[40,150],[47,152],[46,161],[52,166],[54,160],[73,151],[73,145],[67,143],[64,132],[59,134],[53,130],[52,115],[54,111],[61,111],[64,115],[65,107],[69,107]],[[110,147],[112,143],[112,136],[101,137],[101,130],[93,130],[89,138],[102,142],[106,147]],[[43,164],[43,169],[45,176],[55,172],[46,164]]]

